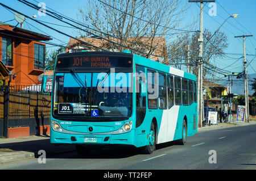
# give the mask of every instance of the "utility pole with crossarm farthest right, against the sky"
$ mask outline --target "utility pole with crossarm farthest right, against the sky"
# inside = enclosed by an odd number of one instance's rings
[[[243,71],[245,72],[245,122],[249,123],[249,99],[248,99],[248,82],[247,82],[247,61],[246,61],[246,50],[245,50],[245,37],[253,35],[242,35],[235,37],[243,37]]]

